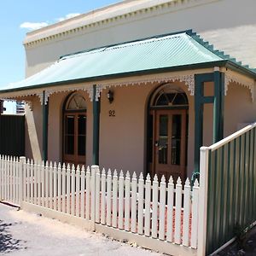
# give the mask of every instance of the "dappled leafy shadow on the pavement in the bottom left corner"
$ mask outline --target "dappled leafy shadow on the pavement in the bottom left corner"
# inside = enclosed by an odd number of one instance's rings
[[[0,220],[0,253],[10,253],[26,248],[22,245],[26,241],[13,238],[9,232],[9,227],[12,225],[13,224],[7,224],[4,223],[3,220]]]

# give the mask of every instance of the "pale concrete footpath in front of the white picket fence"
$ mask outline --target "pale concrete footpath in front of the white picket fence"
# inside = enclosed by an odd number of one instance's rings
[[[0,203],[0,254],[3,253],[11,256],[162,255]]]

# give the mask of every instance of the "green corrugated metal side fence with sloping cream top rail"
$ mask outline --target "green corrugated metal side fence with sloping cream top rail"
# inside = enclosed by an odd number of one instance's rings
[[[204,154],[203,154],[204,153]],[[207,167],[206,253],[256,220],[256,123],[201,148]]]

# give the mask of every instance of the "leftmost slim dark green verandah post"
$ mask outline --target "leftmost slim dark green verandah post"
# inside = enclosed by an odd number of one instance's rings
[[[43,160],[48,160],[48,115],[49,102],[45,102],[45,90],[43,91]]]

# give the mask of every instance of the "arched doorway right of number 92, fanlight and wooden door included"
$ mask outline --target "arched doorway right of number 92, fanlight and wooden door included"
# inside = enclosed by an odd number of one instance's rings
[[[165,84],[154,91],[148,111],[148,166],[174,181],[187,173],[189,103],[183,90]]]

